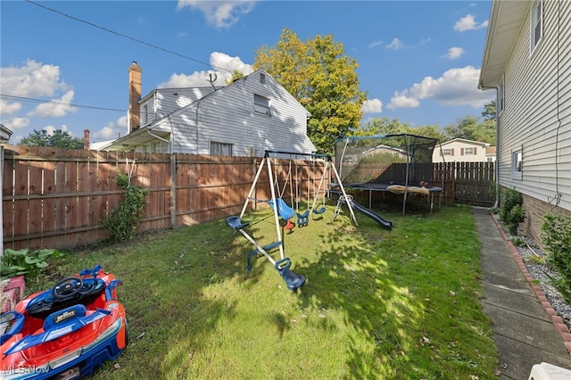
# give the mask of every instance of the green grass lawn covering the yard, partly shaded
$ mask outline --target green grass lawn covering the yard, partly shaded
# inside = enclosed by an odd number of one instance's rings
[[[123,280],[128,347],[95,378],[495,378],[470,209],[383,213],[391,231],[333,211],[285,232],[296,292],[261,255],[247,271],[252,244],[223,219],[68,252],[29,290],[95,264]],[[244,217],[262,245],[268,216]]]

